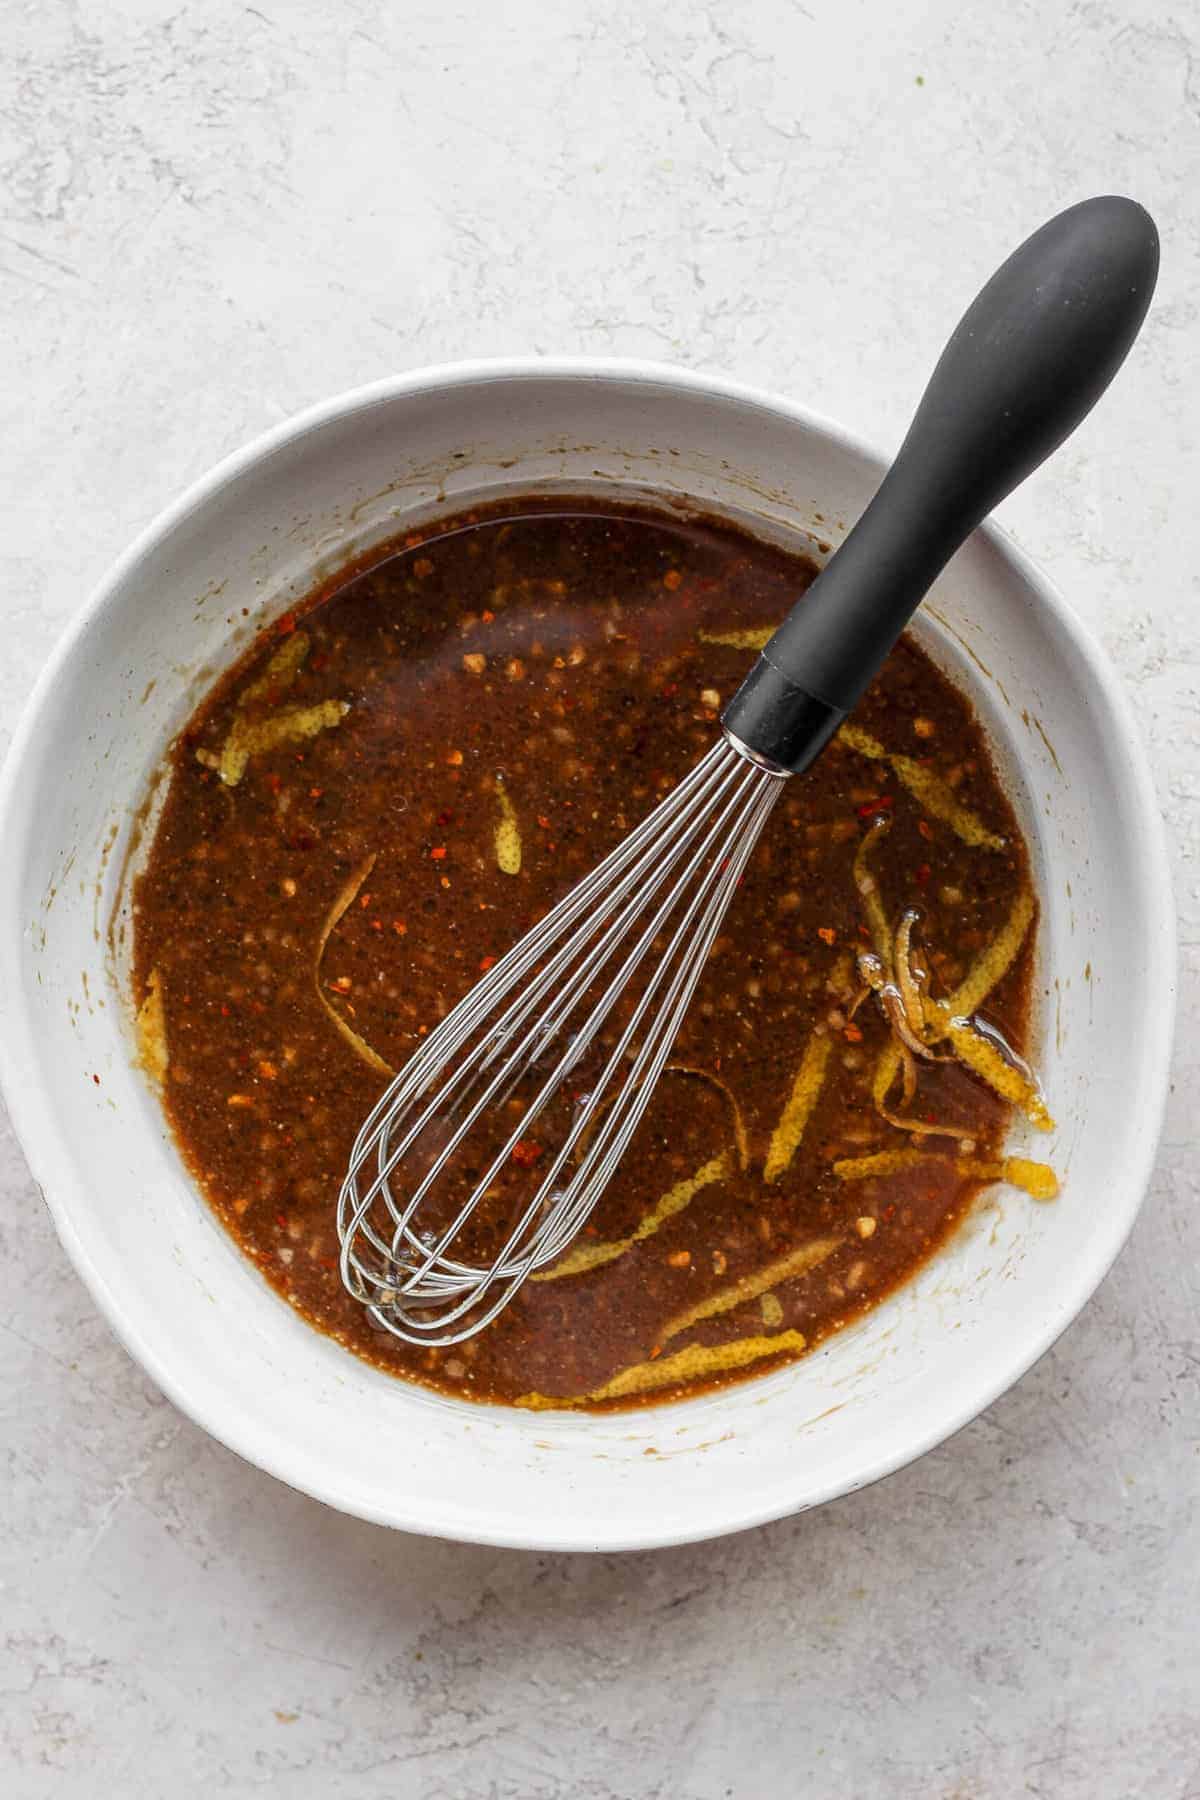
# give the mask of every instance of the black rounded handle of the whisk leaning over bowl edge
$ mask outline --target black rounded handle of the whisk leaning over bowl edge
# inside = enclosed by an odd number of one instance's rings
[[[1092,410],[1137,337],[1159,232],[1133,200],[1060,212],[1009,256],[946,344],[878,493],[723,713],[750,751],[808,767],[977,524]]]

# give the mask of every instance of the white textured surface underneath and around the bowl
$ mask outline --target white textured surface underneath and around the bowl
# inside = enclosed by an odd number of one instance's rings
[[[914,1469],[712,1546],[525,1557],[336,1517],[185,1424],[0,1136],[14,1800],[1200,1796],[1200,23],[1155,0],[655,13],[7,7],[0,745],[133,531],[309,400],[628,351],[896,443],[995,259],[1124,189],[1164,232],[1151,324],[1004,517],[1124,673],[1175,839],[1151,1197],[1058,1348]]]

